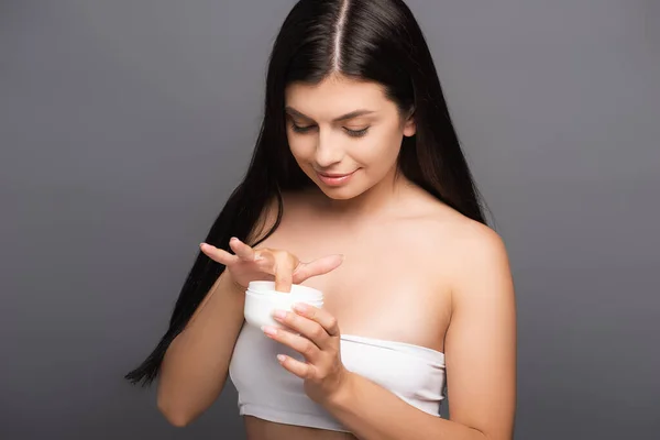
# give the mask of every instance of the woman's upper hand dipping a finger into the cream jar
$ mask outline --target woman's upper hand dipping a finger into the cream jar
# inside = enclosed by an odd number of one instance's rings
[[[287,251],[277,249],[254,250],[237,238],[229,241],[229,246],[235,255],[201,243],[200,249],[211,260],[224,264],[232,280],[242,290],[253,280],[275,279],[275,290],[290,292],[292,284],[300,284],[312,276],[327,274],[339,267],[342,255],[328,255],[309,263],[302,263]]]

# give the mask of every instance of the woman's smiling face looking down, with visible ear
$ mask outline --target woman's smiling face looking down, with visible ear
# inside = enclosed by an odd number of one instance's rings
[[[287,138],[296,162],[330,198],[350,199],[394,179],[413,118],[375,82],[331,76],[293,84],[285,94]]]

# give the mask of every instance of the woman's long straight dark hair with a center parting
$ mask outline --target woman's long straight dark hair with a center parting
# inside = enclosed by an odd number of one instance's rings
[[[328,75],[375,81],[402,113],[414,111],[417,131],[404,138],[398,172],[464,216],[486,223],[461,151],[433,61],[421,30],[402,0],[301,0],[284,21],[270,57],[265,114],[243,182],[229,197],[206,242],[229,250],[231,237],[246,240],[262,211],[282,194],[310,185],[287,142],[285,88],[316,84]],[[312,184],[311,184],[312,185]],[[169,328],[148,358],[127,374],[151,383],[170,342],[188,323],[224,266],[199,253],[174,307]]]

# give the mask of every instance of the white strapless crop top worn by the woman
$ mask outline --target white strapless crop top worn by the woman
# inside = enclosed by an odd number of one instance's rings
[[[302,380],[277,362],[277,354],[302,356],[244,324],[233,351],[229,374],[239,392],[239,413],[285,425],[349,432],[322,406],[311,400]],[[394,393],[416,408],[440,416],[444,399],[444,354],[403,342],[341,337],[346,370]]]

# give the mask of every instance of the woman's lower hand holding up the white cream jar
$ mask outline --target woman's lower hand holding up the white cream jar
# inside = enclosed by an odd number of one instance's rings
[[[274,319],[300,334],[264,327],[264,333],[305,356],[300,362],[279,354],[286,370],[305,381],[305,393],[316,403],[331,400],[348,384],[349,372],[341,362],[340,331],[337,319],[327,310],[309,305],[294,306],[294,312],[277,310]]]

